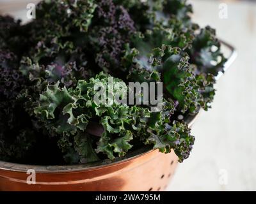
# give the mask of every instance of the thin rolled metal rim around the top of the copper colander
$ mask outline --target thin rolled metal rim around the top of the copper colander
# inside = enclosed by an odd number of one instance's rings
[[[199,112],[200,113],[200,112]],[[186,122],[189,124],[189,128],[193,125],[195,120],[198,118],[199,113],[196,115],[189,115],[186,119]],[[107,166],[115,166],[120,163],[126,163],[138,157],[145,156],[156,150],[148,149],[148,147],[143,147],[138,150],[129,152],[125,157],[116,158],[113,160],[105,159],[103,161],[97,161],[94,163],[87,164],[75,164],[75,165],[63,165],[63,166],[40,166],[40,165],[31,165],[31,164],[17,164],[10,163],[6,161],[0,161],[0,170],[7,171],[19,171],[27,172],[30,169],[35,170],[37,173],[68,173],[74,171],[84,171],[84,170],[93,170],[97,168],[105,168]]]

